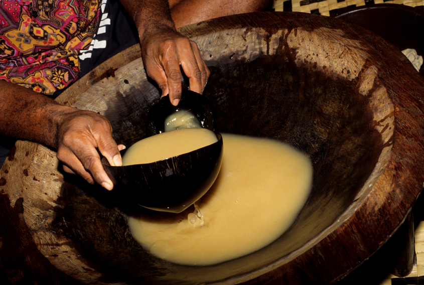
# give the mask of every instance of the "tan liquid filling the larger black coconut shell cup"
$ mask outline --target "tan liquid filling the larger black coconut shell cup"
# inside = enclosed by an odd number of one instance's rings
[[[137,141],[122,157],[122,166],[146,164],[186,154],[216,143],[216,134],[206,128],[183,128]]]

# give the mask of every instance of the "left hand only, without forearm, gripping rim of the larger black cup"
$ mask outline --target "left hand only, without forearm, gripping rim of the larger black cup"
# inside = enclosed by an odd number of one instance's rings
[[[116,145],[109,121],[95,112],[77,109],[64,114],[60,121],[57,158],[63,163],[64,171],[112,190],[113,184],[101,165],[96,148],[111,166],[121,166],[119,151],[125,147]]]

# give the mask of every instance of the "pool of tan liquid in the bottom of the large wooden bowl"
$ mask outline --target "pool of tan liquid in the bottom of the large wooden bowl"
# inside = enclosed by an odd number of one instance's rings
[[[290,145],[223,134],[220,173],[198,202],[180,214],[129,217],[129,229],[152,254],[210,265],[254,252],[295,221],[312,188],[312,164]]]

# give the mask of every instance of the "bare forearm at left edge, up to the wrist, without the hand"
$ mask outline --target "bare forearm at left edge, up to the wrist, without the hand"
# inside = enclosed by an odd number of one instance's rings
[[[0,98],[0,133],[53,148],[57,148],[62,115],[76,110],[4,80],[0,80]]]

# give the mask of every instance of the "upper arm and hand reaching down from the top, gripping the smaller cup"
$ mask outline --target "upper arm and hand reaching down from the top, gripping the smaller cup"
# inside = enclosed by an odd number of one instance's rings
[[[120,0],[138,30],[147,75],[169,93],[171,103],[181,98],[181,71],[190,90],[202,93],[209,77],[197,44],[177,32],[167,0]]]

